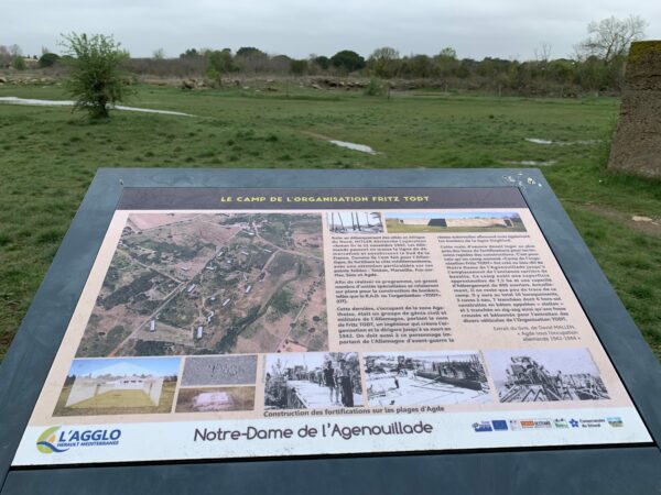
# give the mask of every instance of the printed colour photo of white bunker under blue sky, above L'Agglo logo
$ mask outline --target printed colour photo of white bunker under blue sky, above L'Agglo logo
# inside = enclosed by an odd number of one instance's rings
[[[74,360],[53,416],[170,413],[178,358]]]

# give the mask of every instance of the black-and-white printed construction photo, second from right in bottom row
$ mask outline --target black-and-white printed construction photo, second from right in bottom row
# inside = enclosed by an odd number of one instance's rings
[[[368,353],[365,370],[372,407],[491,402],[477,352]]]

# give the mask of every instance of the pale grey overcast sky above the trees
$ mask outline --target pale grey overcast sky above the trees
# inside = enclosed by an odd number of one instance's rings
[[[241,46],[292,57],[368,56],[380,46],[434,55],[452,46],[460,58],[528,59],[546,44],[556,58],[572,54],[589,21],[629,14],[661,38],[661,0],[0,0],[0,44],[40,54],[76,31],[113,34],[132,56]]]

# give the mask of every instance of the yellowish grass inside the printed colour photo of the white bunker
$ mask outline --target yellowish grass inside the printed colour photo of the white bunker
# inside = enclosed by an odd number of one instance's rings
[[[143,391],[111,391],[66,407],[72,387],[59,394],[53,416],[102,416],[170,413],[174,400],[175,382],[164,382],[159,405],[154,406]]]

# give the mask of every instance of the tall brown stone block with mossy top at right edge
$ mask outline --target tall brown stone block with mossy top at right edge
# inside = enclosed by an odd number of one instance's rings
[[[661,41],[631,43],[608,168],[661,177]]]

